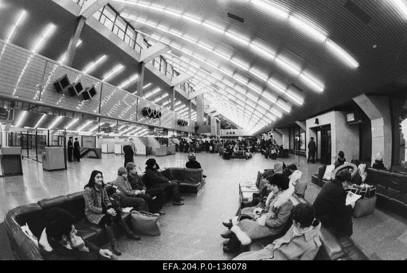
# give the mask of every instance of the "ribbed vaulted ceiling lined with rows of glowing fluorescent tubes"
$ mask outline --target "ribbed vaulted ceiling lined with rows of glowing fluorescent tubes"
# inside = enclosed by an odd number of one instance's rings
[[[76,17],[59,4],[71,0],[2,1],[0,39],[21,9],[28,16],[12,43],[30,49],[48,22],[55,33],[39,52],[57,59],[66,50]],[[201,89],[210,107],[254,133],[292,124],[407,74],[407,1],[158,0],[110,1],[110,7],[151,44],[171,48],[168,63]],[[85,26],[73,67],[103,78],[115,64],[126,69],[109,83],[134,74],[134,60]],[[182,70],[185,70],[183,72]],[[146,80],[147,79],[147,80]],[[148,72],[144,83],[168,86]],[[135,90],[135,83],[125,89]],[[156,97],[152,98],[153,100]],[[182,100],[180,96],[180,100]]]

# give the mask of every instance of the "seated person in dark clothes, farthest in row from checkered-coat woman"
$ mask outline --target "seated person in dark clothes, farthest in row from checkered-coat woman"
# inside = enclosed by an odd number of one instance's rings
[[[149,179],[150,184],[153,188],[160,188],[164,191],[171,191],[172,192],[172,204],[176,206],[181,206],[184,203],[181,203],[184,199],[181,198],[180,190],[178,187],[177,182],[172,182],[165,178],[158,169],[156,160],[154,158],[150,158],[146,161],[146,176]]]

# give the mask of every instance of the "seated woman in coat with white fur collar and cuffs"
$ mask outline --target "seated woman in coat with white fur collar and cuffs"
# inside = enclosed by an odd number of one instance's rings
[[[289,219],[293,203],[290,197],[294,188],[289,188],[289,179],[282,173],[267,177],[268,188],[271,191],[263,207],[261,203],[251,212],[242,214],[232,220],[232,227],[221,236],[229,238],[224,243],[224,252],[237,252],[240,245],[249,245],[251,240],[279,234]],[[244,217],[243,217],[244,216]]]

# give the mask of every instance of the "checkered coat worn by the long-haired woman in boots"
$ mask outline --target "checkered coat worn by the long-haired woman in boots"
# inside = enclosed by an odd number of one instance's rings
[[[101,188],[101,190],[99,191],[96,190],[95,187],[86,187],[83,197],[85,198],[86,219],[88,219],[88,221],[93,224],[99,224],[103,216],[106,215],[106,213],[102,212],[102,202],[105,204],[106,208],[109,208],[109,206],[111,206],[106,189]]]

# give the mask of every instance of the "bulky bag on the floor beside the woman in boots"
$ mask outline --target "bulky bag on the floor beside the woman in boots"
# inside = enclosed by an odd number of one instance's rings
[[[147,211],[135,211],[130,214],[131,228],[135,234],[139,235],[161,235],[159,214],[148,213]]]

